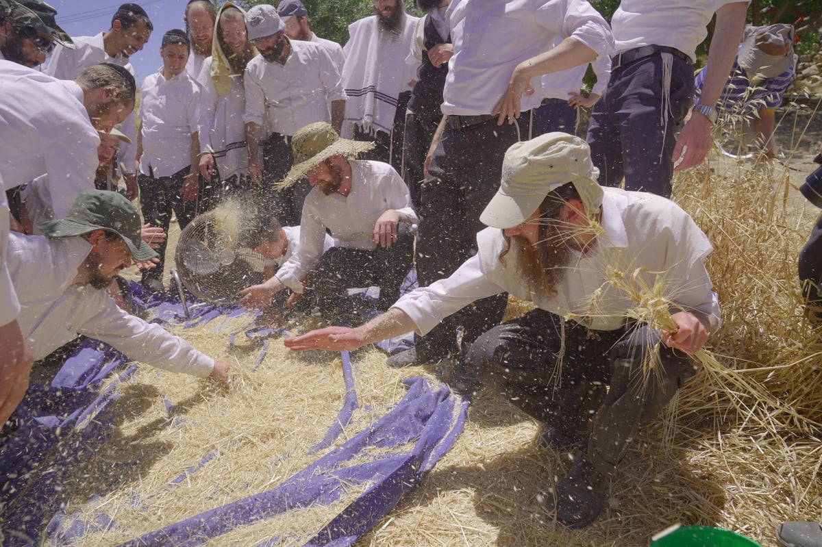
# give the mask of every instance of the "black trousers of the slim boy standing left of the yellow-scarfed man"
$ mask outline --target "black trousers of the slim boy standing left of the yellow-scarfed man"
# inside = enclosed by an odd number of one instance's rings
[[[185,181],[191,167],[180,169],[170,177],[150,177],[137,173],[137,186],[140,186],[140,208],[145,222],[152,226],[159,226],[168,233],[171,223],[171,213],[177,215],[177,222],[183,230],[196,216],[196,200],[184,201],[180,195],[182,182]],[[163,278],[165,269],[166,241],[160,243],[157,254],[159,264],[156,268],[143,270],[141,280],[146,278]]]

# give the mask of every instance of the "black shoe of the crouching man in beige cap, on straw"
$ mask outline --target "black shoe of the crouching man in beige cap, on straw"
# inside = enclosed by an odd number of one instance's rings
[[[556,483],[554,494],[556,503],[549,499],[547,508],[556,509],[556,521],[569,528],[584,528],[603,512],[608,495],[607,476],[593,467],[584,449],[577,450],[574,465]]]

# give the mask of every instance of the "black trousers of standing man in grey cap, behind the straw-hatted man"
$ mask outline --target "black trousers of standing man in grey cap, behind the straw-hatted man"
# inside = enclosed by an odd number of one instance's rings
[[[261,208],[277,218],[283,226],[298,226],[302,215],[302,202],[311,191],[306,178],[300,179],[284,190],[275,190],[294,163],[291,137],[274,133],[263,143],[263,177]]]

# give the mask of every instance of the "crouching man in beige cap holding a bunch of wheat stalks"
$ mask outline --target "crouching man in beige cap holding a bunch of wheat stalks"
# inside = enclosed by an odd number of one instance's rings
[[[579,443],[547,505],[562,524],[587,526],[640,425],[694,375],[686,354],[719,323],[704,233],[671,201],[603,188],[597,176],[588,145],[575,136],[547,133],[512,145],[501,188],[480,217],[490,228],[450,278],[405,294],[361,327],[320,329],[285,345],[353,350],[426,333],[486,296],[509,292],[533,302],[535,310],[473,342],[452,387],[465,390],[466,375],[477,375],[543,424],[540,444]],[[657,298],[659,309],[636,301],[644,296]],[[664,325],[652,319],[660,315]]]

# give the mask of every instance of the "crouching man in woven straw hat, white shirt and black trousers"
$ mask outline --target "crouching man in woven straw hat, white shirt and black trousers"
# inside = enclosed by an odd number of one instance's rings
[[[311,272],[316,304],[328,319],[358,311],[346,297],[349,287],[380,287],[381,310],[397,299],[411,269],[418,218],[408,186],[394,168],[354,159],[373,146],[339,138],[326,122],[297,131],[295,164],[281,186],[303,176],[313,186],[302,206],[300,243],[273,278],[240,292],[241,306],[266,306],[284,287],[302,293],[310,264],[316,264]],[[326,229],[336,246],[323,255]]]

